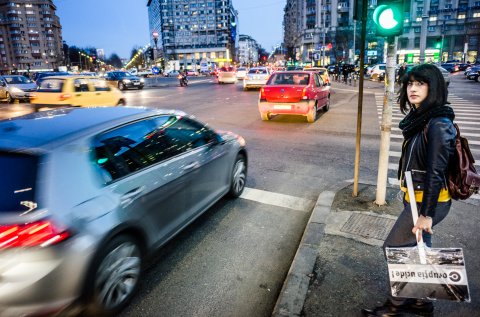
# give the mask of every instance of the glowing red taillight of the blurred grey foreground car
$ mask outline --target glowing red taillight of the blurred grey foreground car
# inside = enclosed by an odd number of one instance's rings
[[[46,247],[67,239],[70,234],[60,231],[50,221],[0,225],[0,250],[19,247]]]

